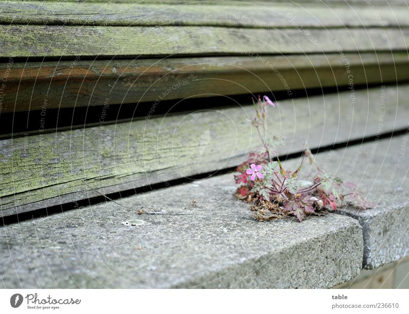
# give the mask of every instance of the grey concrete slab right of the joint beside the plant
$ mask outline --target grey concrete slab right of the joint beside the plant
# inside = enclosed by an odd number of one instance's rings
[[[409,134],[317,156],[327,169],[358,184],[374,208],[340,214],[363,228],[363,267],[372,269],[409,255]]]

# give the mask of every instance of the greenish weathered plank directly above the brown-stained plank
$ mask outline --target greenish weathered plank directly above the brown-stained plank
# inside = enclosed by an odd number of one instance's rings
[[[1,25],[0,57],[119,58],[407,51],[409,29]]]

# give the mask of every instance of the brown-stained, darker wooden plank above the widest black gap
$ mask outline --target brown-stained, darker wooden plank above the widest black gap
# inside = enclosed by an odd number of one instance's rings
[[[406,53],[204,57],[15,63],[2,112],[155,102],[212,95],[409,80]],[[348,63],[348,64],[347,64]],[[7,63],[0,65],[6,73]],[[347,68],[348,69],[347,69]],[[350,72],[348,72],[349,70]],[[172,88],[187,82],[183,88]],[[165,91],[171,89],[171,93]],[[210,94],[209,91],[212,93]],[[163,96],[162,96],[163,95]],[[1,116],[0,116],[1,123]]]

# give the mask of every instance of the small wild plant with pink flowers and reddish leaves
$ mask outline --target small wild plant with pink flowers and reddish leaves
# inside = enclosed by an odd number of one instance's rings
[[[311,151],[306,148],[301,165],[292,171],[283,168],[277,147],[283,139],[267,139],[267,110],[275,104],[267,97],[260,96],[257,103],[253,99],[256,117],[252,124],[260,136],[262,147],[249,154],[248,160],[237,167],[235,175],[238,184],[236,197],[253,203],[255,219],[274,220],[286,216],[295,216],[303,221],[307,215],[322,215],[326,211],[335,211],[349,203],[366,209],[370,206],[356,186],[343,182],[339,177],[324,172],[314,161]],[[308,159],[315,166],[312,177],[300,180],[299,172]],[[347,198],[348,197],[348,201]]]

